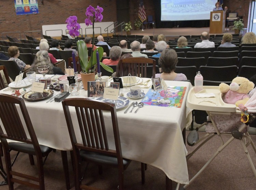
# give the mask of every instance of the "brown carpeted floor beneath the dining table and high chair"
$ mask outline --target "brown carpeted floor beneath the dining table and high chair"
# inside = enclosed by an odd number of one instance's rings
[[[189,131],[187,131],[187,134]],[[199,132],[200,136],[205,132]],[[253,142],[256,144],[256,135],[251,135]],[[219,137],[213,137],[208,143],[206,143],[196,154],[191,157],[188,162],[189,179],[202,167],[204,163],[210,158],[217,147],[220,145]],[[224,141],[229,137],[224,136]],[[188,153],[190,153],[195,147],[186,146]],[[254,165],[256,165],[256,154],[252,147],[248,147]],[[12,152],[12,158],[14,158],[15,152]],[[71,171],[70,155],[70,180],[72,190],[73,187],[73,175]],[[2,157],[2,160],[3,157]],[[5,167],[5,166],[4,166]],[[34,174],[37,171],[36,166],[29,164],[28,155],[20,154],[14,165],[19,171],[26,171],[28,174]],[[84,165],[86,167],[86,165]],[[85,179],[83,183],[88,186],[96,187],[102,190],[117,190],[117,170],[111,167],[103,167],[103,174],[98,174],[98,167],[93,164],[89,164],[85,173]],[[51,152],[44,165],[45,176],[45,189],[46,190],[65,190],[65,179],[63,175],[63,168],[61,162],[60,151]],[[141,184],[141,172],[140,163],[131,162],[129,167],[124,173],[125,188],[127,190],[164,190],[165,189],[165,174],[156,167],[148,165],[146,170],[146,182]],[[2,178],[0,177],[0,181]],[[172,183],[173,188],[176,188],[176,183]],[[15,190],[30,190],[30,188],[15,184]],[[191,183],[187,188],[188,190],[254,190],[256,188],[256,178],[251,170],[248,160],[242,150],[240,142],[234,140],[223,150],[213,162],[205,169],[205,171],[199,175],[199,177]],[[8,186],[1,186],[1,190],[7,190]]]

